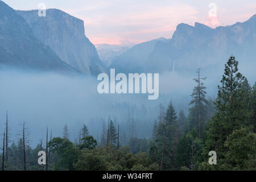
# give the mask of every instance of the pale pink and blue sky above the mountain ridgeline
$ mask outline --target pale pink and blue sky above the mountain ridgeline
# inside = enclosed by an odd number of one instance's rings
[[[177,24],[195,22],[209,27],[244,22],[256,14],[255,0],[3,0],[15,10],[38,9],[40,3],[85,22],[93,44],[129,46],[172,37]],[[47,13],[47,12],[46,12]]]

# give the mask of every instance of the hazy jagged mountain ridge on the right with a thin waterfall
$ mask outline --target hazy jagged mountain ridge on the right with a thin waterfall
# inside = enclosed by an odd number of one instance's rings
[[[217,28],[181,23],[171,39],[138,44],[118,56],[110,66],[127,68],[129,72],[194,73],[197,68],[209,72],[220,68],[222,72],[231,55],[236,56],[241,67],[255,66],[255,50],[256,15],[246,22]]]

